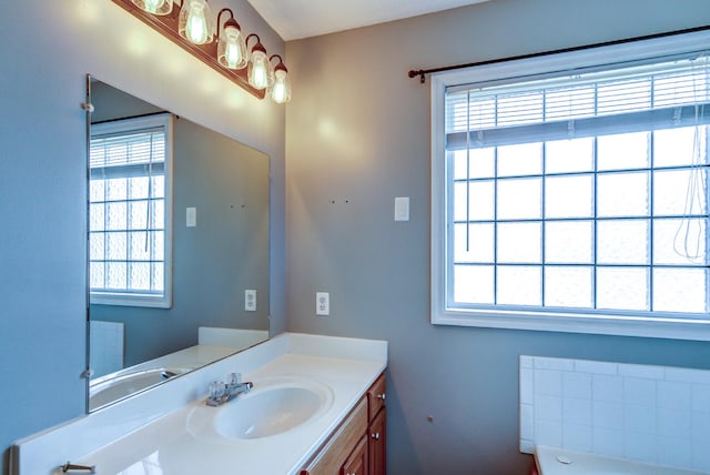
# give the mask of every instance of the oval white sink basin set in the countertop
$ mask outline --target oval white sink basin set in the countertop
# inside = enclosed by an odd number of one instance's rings
[[[305,381],[254,382],[254,388],[214,414],[214,431],[227,438],[260,438],[295,428],[327,411],[332,391]]]

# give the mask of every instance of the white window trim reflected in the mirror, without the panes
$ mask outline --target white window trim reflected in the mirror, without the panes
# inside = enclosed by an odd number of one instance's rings
[[[98,305],[171,309],[173,306],[173,117],[170,113],[164,113],[131,119],[131,127],[134,129],[163,127],[165,130],[165,162],[163,171],[165,178],[164,292],[162,295],[149,295],[120,292],[93,292],[90,290],[89,300],[91,304]],[[124,121],[100,123],[91,125],[91,129],[92,133],[94,130],[100,133],[126,131]]]

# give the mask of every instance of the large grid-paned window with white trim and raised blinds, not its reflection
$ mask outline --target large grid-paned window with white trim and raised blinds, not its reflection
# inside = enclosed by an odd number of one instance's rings
[[[699,37],[434,79],[434,323],[710,338]]]

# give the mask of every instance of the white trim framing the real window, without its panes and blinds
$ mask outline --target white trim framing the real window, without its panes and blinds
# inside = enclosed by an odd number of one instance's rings
[[[521,311],[460,310],[446,305],[446,153],[445,92],[447,87],[516,78],[571,68],[588,68],[645,59],[707,51],[710,31],[653,38],[572,52],[495,62],[432,75],[432,223],[430,223],[430,320],[437,325],[479,326],[567,333],[590,333],[710,341],[710,315],[699,319],[659,319],[647,315],[552,313]],[[446,210],[443,212],[443,210]]]

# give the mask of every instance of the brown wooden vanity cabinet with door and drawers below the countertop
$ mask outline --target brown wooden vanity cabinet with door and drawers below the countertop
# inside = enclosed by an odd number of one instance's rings
[[[358,401],[301,475],[385,475],[385,375]]]

